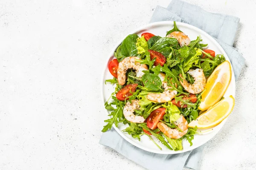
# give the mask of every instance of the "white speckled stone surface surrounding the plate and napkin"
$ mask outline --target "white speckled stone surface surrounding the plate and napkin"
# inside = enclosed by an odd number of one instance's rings
[[[247,61],[234,111],[207,143],[200,170],[255,170],[256,2],[187,1],[240,17],[234,45]],[[98,143],[107,117],[99,83],[114,44],[168,4],[1,0],[0,170],[144,170]]]

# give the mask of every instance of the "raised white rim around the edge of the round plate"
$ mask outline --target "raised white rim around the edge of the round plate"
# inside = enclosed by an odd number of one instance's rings
[[[201,30],[200,28],[197,28],[195,26],[192,26],[190,24],[187,24],[187,23],[181,23],[181,22],[177,22],[176,21],[176,24],[177,25],[181,25],[181,26],[186,26],[186,27],[190,27],[190,28],[193,28],[195,30],[198,30],[199,32],[205,34],[207,37],[209,37],[209,39],[211,39],[213,42],[215,42],[215,45],[218,46],[218,48],[221,49],[221,51],[224,51],[224,56],[227,56],[227,58],[225,57],[226,60],[228,60],[230,62],[230,59],[228,57],[228,55],[226,54],[225,50],[221,47],[221,45],[211,36],[209,35],[207,32]],[[146,24],[146,25],[143,25],[143,26],[140,26],[139,28],[136,28],[134,29],[133,31],[129,32],[129,34],[137,34],[137,32],[140,32],[142,31],[143,29],[148,29],[149,27],[151,26],[161,26],[161,25],[173,25],[173,21],[159,21],[159,22],[154,22],[154,23],[149,23],[149,24]],[[129,34],[126,34],[125,37],[127,37]],[[201,35],[201,34],[200,34]],[[118,48],[118,46],[122,43],[122,41],[125,39],[125,37],[122,37],[122,39],[120,39],[120,41],[118,43],[116,43],[114,45],[113,48],[111,48],[112,50],[110,51],[110,53],[108,54],[108,57],[106,59],[106,61],[104,62],[104,67],[103,67],[103,71],[102,71],[102,76],[101,76],[101,81],[100,81],[100,85],[101,85],[101,102],[103,103],[102,107],[104,106],[104,93],[103,93],[103,86],[105,85],[104,83],[104,75],[105,75],[105,70],[108,66],[108,62],[109,62],[109,59],[111,57],[113,57],[113,53],[116,51],[116,49]],[[230,81],[230,85],[232,84],[233,85],[233,91],[231,92],[232,95],[235,97],[236,96],[236,82],[235,82],[235,77],[234,77],[234,70],[233,70],[233,66],[230,62],[230,65],[231,65],[231,81]],[[230,86],[229,85],[229,86]],[[105,109],[105,107],[103,107],[104,110],[105,110],[105,113],[107,113],[107,115],[109,114],[108,111]],[[232,111],[233,112],[233,111]],[[232,113],[231,112],[231,113]],[[109,116],[108,116],[109,117]],[[228,116],[229,117],[229,116]],[[228,118],[227,117],[227,118]],[[227,118],[224,119],[219,125],[217,126],[221,126],[220,129],[209,139],[211,140],[221,129],[222,127],[224,126],[225,122],[227,121]],[[216,127],[217,127],[216,126]],[[193,144],[192,146],[190,146],[188,149],[186,150],[178,150],[178,151],[175,151],[175,153],[173,153],[173,150],[159,150],[159,151],[156,151],[156,150],[151,150],[150,148],[148,147],[144,147],[143,145],[138,145],[136,142],[132,141],[131,139],[129,139],[127,136],[124,135],[124,133],[119,130],[118,127],[116,127],[114,124],[112,125],[112,127],[117,131],[117,133],[119,133],[119,135],[124,138],[127,142],[133,144],[134,146],[140,148],[140,149],[143,149],[145,151],[148,151],[148,152],[151,152],[151,153],[159,153],[159,154],[177,154],[177,153],[184,153],[184,152],[187,152],[187,151],[190,151],[190,150],[193,150],[197,147],[200,147],[202,146],[203,144],[207,143],[208,141],[206,142],[203,142],[203,143],[200,143],[200,144]]]

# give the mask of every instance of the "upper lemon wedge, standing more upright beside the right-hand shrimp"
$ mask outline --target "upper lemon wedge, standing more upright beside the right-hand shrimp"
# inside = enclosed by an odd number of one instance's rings
[[[215,105],[227,90],[231,80],[230,62],[224,61],[218,65],[207,79],[205,91],[202,94],[199,110],[205,111]]]

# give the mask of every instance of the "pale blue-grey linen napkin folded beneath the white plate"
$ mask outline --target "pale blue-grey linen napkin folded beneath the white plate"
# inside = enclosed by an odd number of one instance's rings
[[[167,8],[157,6],[150,22],[167,20],[188,23],[214,37],[230,58],[235,78],[239,77],[245,61],[241,54],[232,47],[239,25],[239,18],[209,13],[198,6],[180,0],[172,0]],[[127,142],[114,128],[103,133],[99,143],[113,148],[148,170],[156,170],[160,169],[160,167],[169,167],[169,169],[173,170],[182,170],[183,167],[188,167],[197,170],[204,149],[204,145],[202,145],[194,150],[173,155],[151,153]]]

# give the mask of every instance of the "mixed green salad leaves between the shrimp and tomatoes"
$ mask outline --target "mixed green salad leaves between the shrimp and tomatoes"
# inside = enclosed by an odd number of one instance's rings
[[[176,23],[174,23],[174,28],[167,32],[166,35],[172,33],[173,31],[180,31]],[[181,32],[181,31],[180,31]],[[192,103],[190,99],[184,99],[183,97],[189,95],[187,91],[180,84],[180,74],[189,83],[193,83],[194,79],[187,73],[189,69],[202,68],[206,77],[213,72],[213,70],[222,62],[225,58],[223,55],[218,54],[215,57],[211,56],[209,53],[203,50],[207,44],[201,43],[202,39],[200,36],[196,40],[190,42],[188,46],[180,47],[177,39],[169,37],[153,36],[149,40],[146,40],[144,36],[139,37],[137,34],[128,35],[122,42],[122,44],[116,49],[114,56],[121,62],[125,57],[137,56],[140,59],[137,62],[141,64],[146,64],[148,66],[148,71],[144,71],[143,77],[136,77],[134,70],[130,69],[126,73],[126,83],[137,84],[136,91],[131,92],[131,95],[126,97],[125,100],[119,100],[116,98],[116,94],[125,85],[119,85],[117,79],[108,79],[105,83],[115,84],[115,91],[111,94],[107,102],[105,102],[105,108],[111,111],[110,119],[105,120],[107,125],[102,129],[102,132],[110,130],[112,125],[115,124],[117,127],[119,123],[128,124],[128,127],[123,130],[123,132],[128,133],[133,138],[140,141],[142,135],[148,136],[154,144],[161,149],[161,147],[153,140],[151,137],[154,136],[162,144],[168,147],[170,150],[182,150],[182,140],[186,139],[190,146],[192,145],[192,140],[194,135],[197,133],[197,127],[188,128],[188,132],[180,139],[171,139],[162,133],[158,128],[152,130],[147,126],[147,123],[132,123],[125,119],[123,115],[123,108],[126,102],[131,102],[131,100],[138,99],[140,104],[140,109],[135,110],[135,115],[143,116],[147,119],[152,111],[158,108],[165,108],[165,115],[163,120],[160,122],[165,123],[170,128],[177,128],[174,122],[183,115],[186,121],[189,123],[198,117],[198,106],[201,102],[201,92],[200,94],[195,94],[196,102]],[[166,59],[166,62],[161,66],[160,64],[154,65],[157,58],[152,59],[151,53],[149,51],[157,51]],[[177,95],[175,96],[175,102],[180,102],[181,107],[177,107],[173,102],[157,103],[147,99],[149,93],[162,93],[164,91],[162,87],[162,81],[158,74],[162,72],[166,74],[165,81],[169,87],[176,90]],[[177,86],[176,86],[177,85]],[[183,107],[186,105],[186,107]],[[149,133],[145,133],[148,131]],[[149,135],[151,133],[151,135]]]

